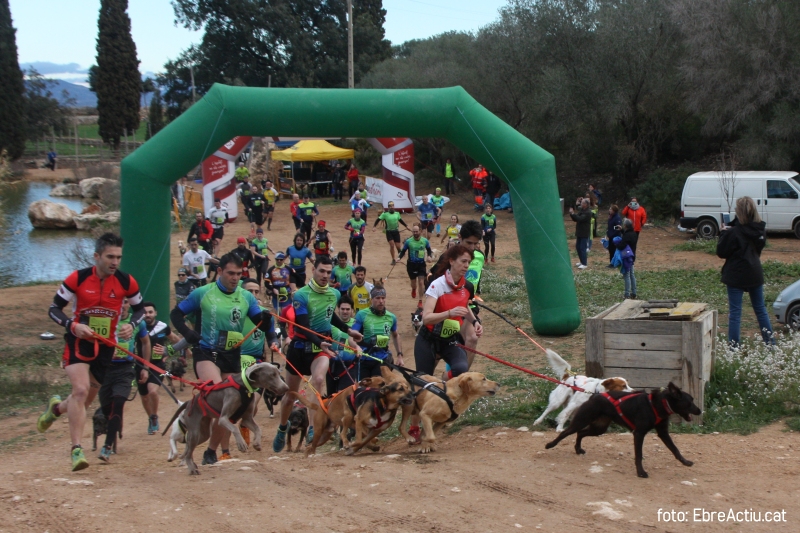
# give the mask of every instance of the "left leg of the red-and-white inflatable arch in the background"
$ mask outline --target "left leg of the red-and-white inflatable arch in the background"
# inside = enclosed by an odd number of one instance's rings
[[[203,161],[203,210],[208,213],[214,207],[214,198],[222,200],[228,210],[228,218],[236,220],[238,203],[236,195],[236,162],[252,137],[234,137],[213,155]]]

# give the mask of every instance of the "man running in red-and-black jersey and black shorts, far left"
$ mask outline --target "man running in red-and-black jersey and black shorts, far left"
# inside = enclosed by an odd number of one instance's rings
[[[144,316],[139,284],[119,270],[122,238],[113,233],[102,235],[95,243],[94,260],[95,266],[67,276],[50,305],[50,318],[67,330],[61,364],[72,384],[72,393],[63,402],[59,396],[50,398],[37,421],[37,429],[44,433],[62,413],[69,414],[73,471],[89,466],[81,448],[86,408],[97,395],[114,355],[114,348],[99,342],[94,335],[112,341],[130,339]],[[125,298],[131,304],[131,320],[117,329]],[[64,307],[70,302],[72,313],[68,316]]]

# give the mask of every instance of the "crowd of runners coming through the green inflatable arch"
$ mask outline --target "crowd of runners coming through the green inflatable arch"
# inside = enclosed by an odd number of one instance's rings
[[[232,240],[225,235],[231,217],[219,198],[207,213],[198,212],[186,244],[179,242],[175,306],[161,310],[161,320],[155,304],[143,300],[137,281],[119,270],[123,241],[112,233],[97,240],[94,265],[73,272],[59,288],[49,314],[65,328],[62,366],[72,392],[64,400],[50,399],[38,429],[44,432],[68,415],[73,470],[88,466],[82,447],[86,408],[98,393],[107,419],[98,457],[109,462],[133,389],[147,413],[148,433],[155,434],[163,429],[158,416],[162,376],[187,361],[199,381],[213,383],[252,364],[278,361],[285,363],[289,390],[298,391],[306,381],[313,390],[332,394],[379,376],[384,362],[402,366],[407,360],[384,280],[368,282],[362,265],[368,211],[379,210],[363,184],[354,188],[351,217],[341,228],[327,226],[308,194],[292,195],[286,213],[296,233],[290,243],[281,243],[287,245],[283,248],[270,246],[265,231],[272,230],[276,206],[286,200],[280,200],[272,182],[256,183],[241,168],[238,191],[249,235],[236,236],[235,247],[226,246]],[[483,333],[475,301],[480,301],[484,265],[495,261],[497,218],[489,203],[479,220],[460,222],[455,213],[447,217],[448,198],[440,188],[420,200],[413,213],[405,214],[408,220],[388,202],[372,215],[370,233],[385,235],[389,274],[404,260],[421,320],[413,346],[416,369],[433,374],[442,359],[443,379],[449,379],[472,364],[472,354],[459,344],[475,349]],[[438,244],[446,241],[438,260],[434,234]],[[65,311],[68,305],[71,311]],[[275,452],[286,445],[292,402],[289,395],[281,402]],[[242,432],[248,440],[246,429]],[[313,434],[311,427],[308,442]],[[418,421],[412,419],[409,434],[419,441]],[[215,423],[203,464],[230,458],[229,440],[230,432]]]

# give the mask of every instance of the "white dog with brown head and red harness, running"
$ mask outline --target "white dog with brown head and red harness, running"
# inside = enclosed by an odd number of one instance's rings
[[[572,418],[572,414],[578,409],[578,407],[583,405],[583,403],[589,399],[591,393],[608,392],[611,390],[633,390],[630,388],[628,381],[625,378],[616,377],[600,379],[590,378],[587,376],[570,375],[572,366],[564,361],[561,356],[553,350],[547,350],[547,363],[550,365],[550,368],[553,369],[553,372],[555,372],[556,375],[561,378],[561,381],[568,385],[580,387],[586,392],[579,392],[567,387],[566,385],[559,385],[553,390],[553,392],[550,393],[550,403],[547,405],[547,409],[544,410],[544,413],[542,413],[542,416],[537,418],[533,423],[534,426],[541,424],[545,417],[550,414],[550,412],[566,405],[566,407],[564,407],[564,409],[556,417],[556,422],[558,423],[556,431],[563,431],[564,426],[566,426],[567,422],[569,422],[570,418]]]

